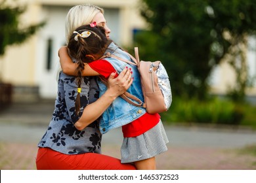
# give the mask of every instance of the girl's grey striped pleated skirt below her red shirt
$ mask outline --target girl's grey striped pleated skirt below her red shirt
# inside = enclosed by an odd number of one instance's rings
[[[121,146],[121,163],[152,158],[167,151],[168,138],[160,122],[138,137],[125,137]]]

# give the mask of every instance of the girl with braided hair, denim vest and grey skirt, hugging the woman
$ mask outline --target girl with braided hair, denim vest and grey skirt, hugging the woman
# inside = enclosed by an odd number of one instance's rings
[[[77,87],[80,88],[81,76],[108,78],[113,71],[116,76],[125,67],[133,72],[133,83],[127,92],[144,101],[140,84],[140,75],[136,65],[129,65],[117,58],[132,61],[129,54],[108,40],[104,29],[95,24],[78,27],[70,37],[68,51],[77,64],[72,62],[65,48],[60,49],[62,71],[77,76]],[[108,54],[111,57],[106,57]],[[100,59],[104,58],[104,59]],[[76,71],[76,73],[75,73]],[[130,79],[130,78],[129,78]],[[106,85],[98,78],[100,95],[106,92]],[[79,90],[78,90],[79,91]],[[77,99],[79,112],[79,95]],[[167,150],[168,142],[159,114],[148,114],[145,108],[135,107],[121,97],[117,97],[102,114],[100,131],[106,133],[110,129],[122,126],[123,144],[121,146],[121,163],[134,162],[137,169],[156,169],[155,156]],[[84,125],[81,127],[83,129]]]

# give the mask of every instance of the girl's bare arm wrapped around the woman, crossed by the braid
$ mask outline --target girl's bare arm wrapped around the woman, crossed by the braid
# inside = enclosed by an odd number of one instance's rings
[[[75,69],[77,68],[77,63],[74,63],[68,54],[67,46],[62,46],[60,50],[58,50],[58,56],[60,57],[60,66],[62,68],[62,72],[66,75],[76,76]],[[85,63],[85,69],[83,69],[82,76],[98,76],[100,75],[95,70],[91,69],[91,67]]]

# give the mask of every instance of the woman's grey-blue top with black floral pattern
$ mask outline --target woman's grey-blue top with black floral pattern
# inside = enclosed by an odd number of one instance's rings
[[[79,116],[76,116],[77,84],[75,77],[60,72],[53,118],[37,146],[48,147],[63,154],[101,153],[102,135],[98,129],[98,120],[82,131],[74,127],[83,108],[96,101],[99,95],[95,77],[83,77],[81,88],[81,110]]]

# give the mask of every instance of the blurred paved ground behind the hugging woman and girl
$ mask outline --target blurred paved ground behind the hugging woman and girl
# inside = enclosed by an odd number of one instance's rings
[[[37,142],[45,133],[54,101],[14,104],[0,112],[0,169],[35,169]],[[256,132],[238,128],[165,125],[168,151],[157,156],[158,169],[256,169],[256,156],[243,151],[256,145]],[[120,158],[122,136],[103,136],[102,153]]]

